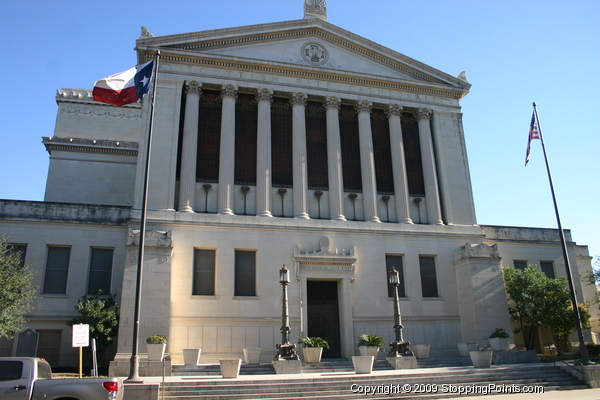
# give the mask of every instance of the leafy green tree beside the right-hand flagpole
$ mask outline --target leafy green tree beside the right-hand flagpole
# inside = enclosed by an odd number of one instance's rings
[[[525,347],[534,349],[535,334],[540,327],[552,331],[559,353],[566,348],[570,334],[577,327],[567,279],[548,278],[530,265],[524,270],[506,267],[502,271],[509,300],[509,313],[519,323],[516,333],[523,332]],[[584,328],[589,328],[590,315],[587,308],[578,305]],[[529,326],[529,332],[525,327]]]

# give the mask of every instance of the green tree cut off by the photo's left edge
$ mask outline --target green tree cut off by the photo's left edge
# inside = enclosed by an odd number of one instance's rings
[[[12,339],[25,328],[25,315],[34,309],[35,274],[21,265],[21,254],[0,237],[0,337]]]

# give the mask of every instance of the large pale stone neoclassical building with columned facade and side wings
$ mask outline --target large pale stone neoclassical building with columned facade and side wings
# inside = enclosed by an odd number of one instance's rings
[[[156,50],[141,353],[160,334],[174,363],[186,348],[209,362],[261,347],[269,360],[283,265],[292,339],[326,338],[326,357],[354,355],[363,333],[393,339],[392,267],[405,338],[440,354],[510,330],[502,267],[565,275],[556,230],[476,223],[464,74],[329,23],[325,1],[306,1],[294,21],[162,37],[143,29],[137,63]],[[115,351],[128,359],[149,102],[110,106],[91,89],[62,89],[56,101],[45,200],[0,201],[1,233],[39,270],[29,326],[41,355],[76,363],[65,323],[102,288],[120,299]],[[590,257],[567,235],[579,277]],[[592,299],[591,286],[576,286]]]

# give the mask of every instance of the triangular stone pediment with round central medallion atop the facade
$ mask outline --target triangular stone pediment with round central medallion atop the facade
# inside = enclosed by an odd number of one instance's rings
[[[309,69],[347,79],[395,80],[460,92],[470,84],[410,57],[319,19],[145,37],[137,42],[139,61],[152,49],[179,62],[212,60],[244,65]],[[216,60],[216,61],[215,61]]]

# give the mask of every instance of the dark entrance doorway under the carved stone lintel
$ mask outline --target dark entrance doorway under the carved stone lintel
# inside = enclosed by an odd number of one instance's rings
[[[329,342],[329,350],[323,349],[323,358],[341,357],[337,281],[307,281],[306,294],[308,336]]]

